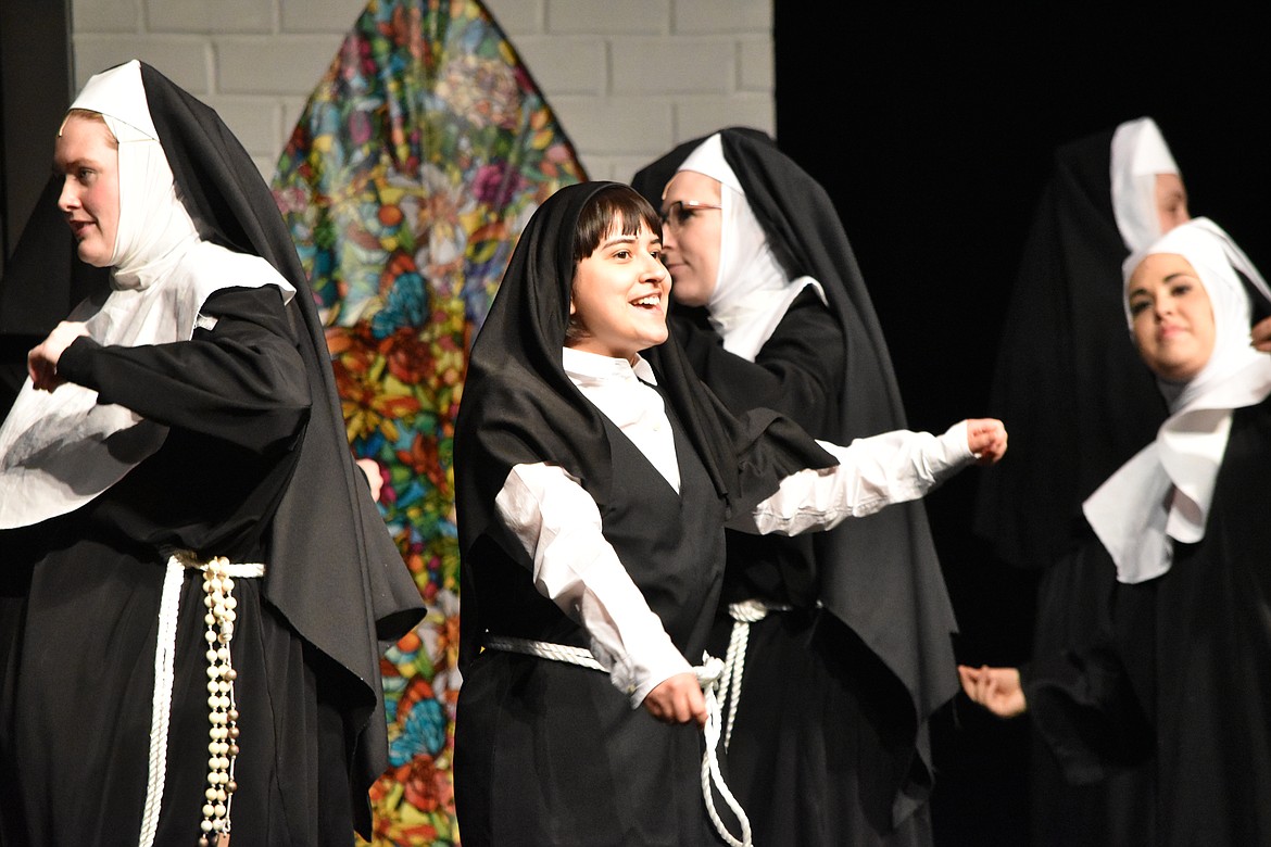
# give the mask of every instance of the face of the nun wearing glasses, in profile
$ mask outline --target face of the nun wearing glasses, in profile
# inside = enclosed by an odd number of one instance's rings
[[[662,260],[675,279],[675,300],[705,306],[719,274],[723,230],[719,180],[681,170],[662,193]],[[712,208],[713,207],[713,208]]]

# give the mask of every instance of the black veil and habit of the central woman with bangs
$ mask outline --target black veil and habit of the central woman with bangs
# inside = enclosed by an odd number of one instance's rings
[[[516,465],[567,470],[690,663],[702,660],[723,574],[723,528],[788,474],[834,458],[774,411],[733,418],[671,340],[649,362],[676,436],[679,495],[562,367],[576,226],[615,183],[562,188],[525,229],[473,345],[455,428],[460,691],[455,797],[464,843],[717,843],[697,726],[655,721],[597,670],[482,650],[487,634],[586,644],[538,594],[494,498]],[[623,187],[625,188],[625,187]]]

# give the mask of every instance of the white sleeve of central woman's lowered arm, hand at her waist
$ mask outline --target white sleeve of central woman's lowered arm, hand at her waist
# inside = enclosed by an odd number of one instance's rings
[[[494,505],[534,561],[535,588],[582,626],[633,709],[658,683],[693,670],[601,532],[596,502],[564,469],[517,465]]]

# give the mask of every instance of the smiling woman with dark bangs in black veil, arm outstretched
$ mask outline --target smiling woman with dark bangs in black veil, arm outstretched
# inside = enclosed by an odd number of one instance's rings
[[[836,447],[768,409],[735,418],[665,325],[660,244],[629,187],[561,189],[473,347],[455,429],[465,844],[716,843],[690,673],[724,524],[831,527],[1005,448],[995,420]]]

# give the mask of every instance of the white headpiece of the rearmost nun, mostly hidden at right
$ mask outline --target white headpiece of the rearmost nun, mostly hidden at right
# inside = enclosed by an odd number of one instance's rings
[[[1163,235],[1157,174],[1177,174],[1178,165],[1152,118],[1120,124],[1112,133],[1111,152],[1112,216],[1126,249],[1134,253]]]

